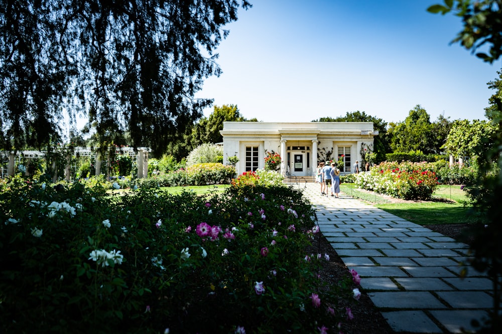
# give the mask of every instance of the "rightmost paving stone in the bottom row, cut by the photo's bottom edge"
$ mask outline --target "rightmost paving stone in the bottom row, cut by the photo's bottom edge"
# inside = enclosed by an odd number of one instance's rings
[[[465,333],[475,331],[471,320],[482,321],[488,317],[488,313],[482,310],[431,310],[431,315],[436,318],[451,333]],[[464,329],[464,331],[462,331]]]

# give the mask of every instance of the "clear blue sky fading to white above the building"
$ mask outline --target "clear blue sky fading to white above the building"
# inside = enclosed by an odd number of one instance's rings
[[[435,121],[485,119],[494,93],[486,64],[450,41],[441,0],[251,0],[217,53],[223,70],[197,97],[234,104],[245,118],[310,122],[356,110],[403,121],[420,104]],[[204,111],[209,116],[213,108]]]

